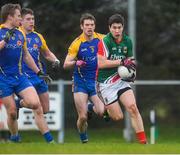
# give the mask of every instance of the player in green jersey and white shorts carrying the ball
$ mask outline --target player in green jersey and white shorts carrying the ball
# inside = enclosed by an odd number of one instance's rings
[[[108,21],[108,33],[98,45],[98,83],[99,91],[109,116],[119,121],[123,118],[120,108],[121,102],[130,114],[132,126],[140,143],[146,144],[143,121],[136,105],[134,93],[127,81],[123,81],[117,73],[117,67],[124,65],[135,69],[135,60],[132,61],[132,41],[123,33],[124,18],[114,14]],[[134,81],[134,77],[128,79]]]

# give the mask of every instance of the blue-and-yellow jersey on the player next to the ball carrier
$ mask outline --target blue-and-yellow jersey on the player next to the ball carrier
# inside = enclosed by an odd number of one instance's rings
[[[75,77],[96,79],[98,43],[102,38],[102,34],[94,33],[94,38],[91,41],[87,41],[82,33],[72,42],[68,49],[68,55],[76,57],[77,60],[86,62],[86,66],[81,68],[75,65]]]

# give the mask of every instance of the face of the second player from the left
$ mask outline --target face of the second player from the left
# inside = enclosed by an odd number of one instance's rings
[[[34,15],[26,14],[22,17],[22,26],[27,32],[33,31],[34,23]]]

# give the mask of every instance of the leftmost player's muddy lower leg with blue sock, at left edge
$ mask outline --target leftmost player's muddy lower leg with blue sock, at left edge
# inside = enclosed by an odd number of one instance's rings
[[[2,98],[2,102],[6,108],[7,112],[7,125],[11,133],[10,140],[13,142],[19,142],[21,140],[18,134],[18,123],[17,123],[17,113],[16,105],[14,102],[14,96],[10,95]]]

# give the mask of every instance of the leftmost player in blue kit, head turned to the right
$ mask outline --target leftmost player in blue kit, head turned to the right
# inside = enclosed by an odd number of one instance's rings
[[[41,73],[34,63],[26,47],[26,39],[18,30],[21,22],[21,7],[19,4],[5,4],[1,8],[0,26],[0,98],[8,114],[10,140],[20,141],[17,125],[14,93],[25,101],[25,107],[38,109],[40,107],[36,90],[22,73],[22,59],[35,73]],[[42,74],[41,74],[42,75]]]

